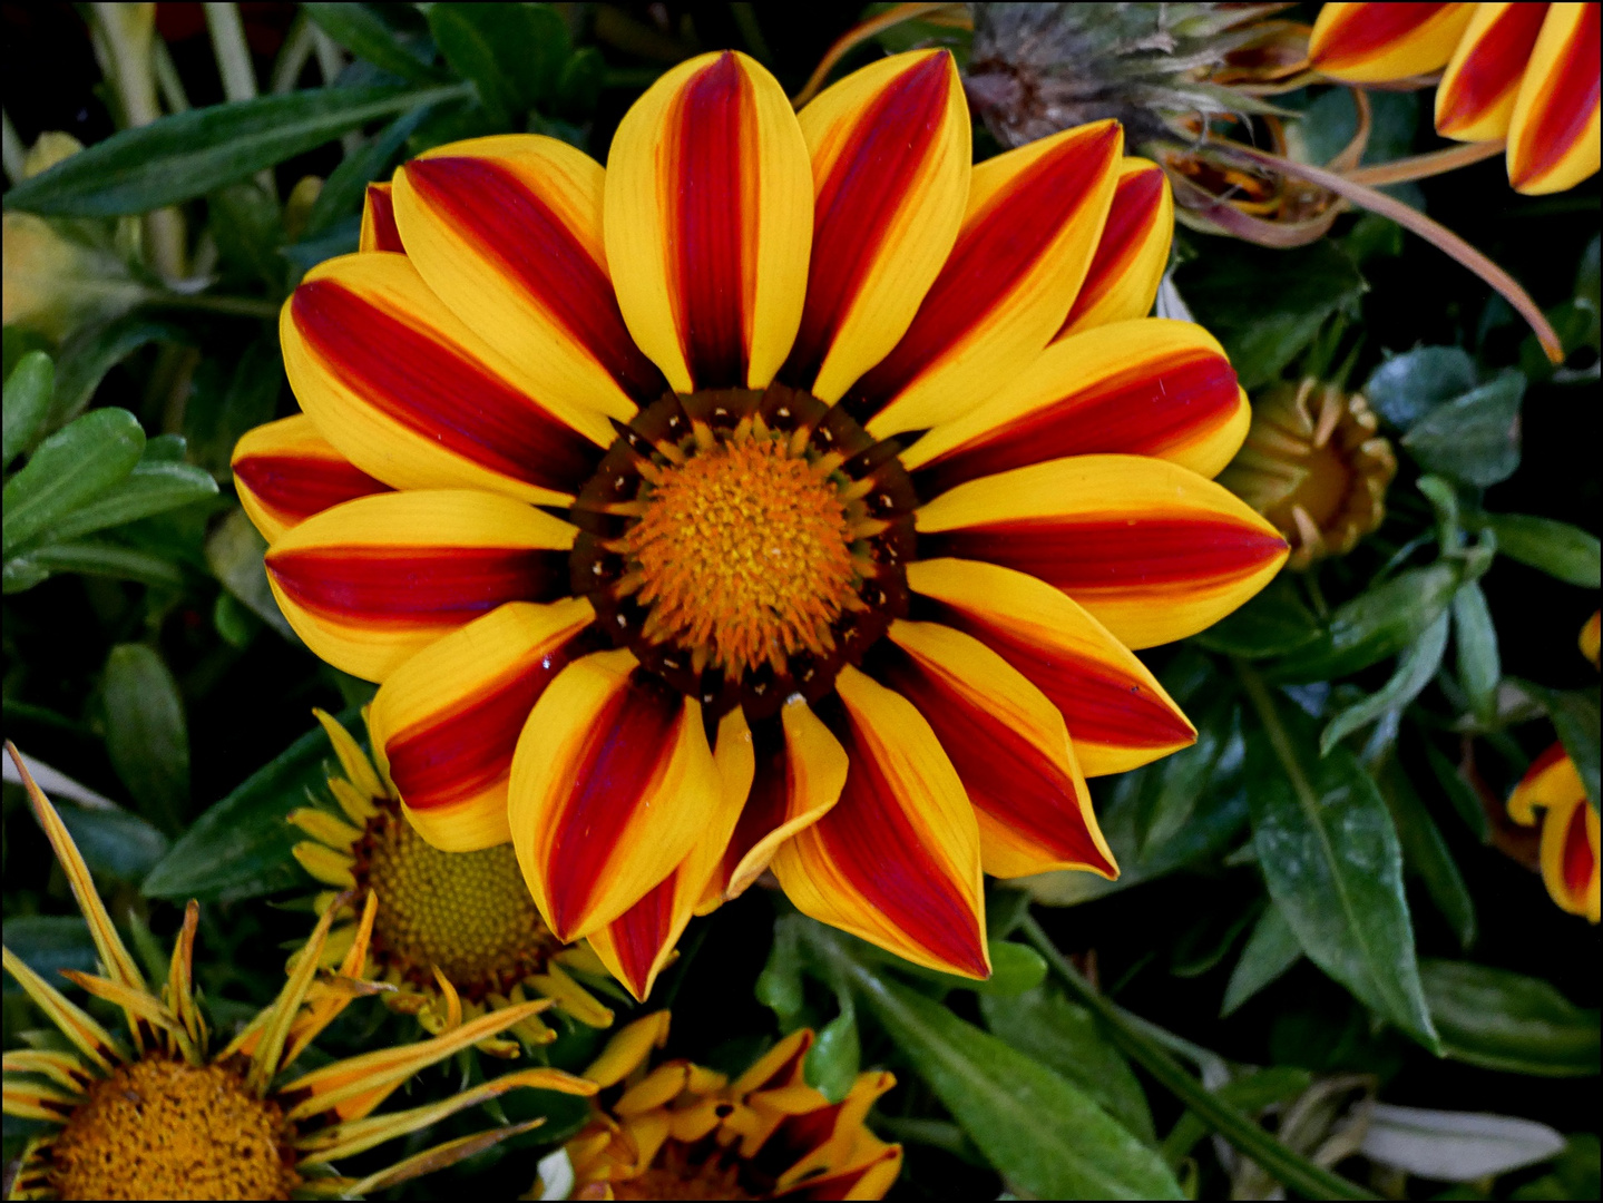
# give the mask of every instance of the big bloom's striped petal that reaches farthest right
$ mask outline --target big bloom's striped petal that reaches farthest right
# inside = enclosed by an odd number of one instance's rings
[[[1055,585],[1127,647],[1196,634],[1290,554],[1234,493],[1165,460],[1076,455],[960,484],[917,513],[920,556]]]

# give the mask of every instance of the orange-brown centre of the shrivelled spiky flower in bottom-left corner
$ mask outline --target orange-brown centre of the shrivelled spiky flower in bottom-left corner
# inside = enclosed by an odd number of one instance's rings
[[[289,1198],[277,1104],[221,1065],[138,1060],[95,1083],[50,1147],[61,1198]]]

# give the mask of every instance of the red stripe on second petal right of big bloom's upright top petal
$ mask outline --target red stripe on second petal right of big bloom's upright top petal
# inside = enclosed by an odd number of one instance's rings
[[[1117,125],[1090,138],[1066,139],[1011,181],[999,203],[957,237],[946,266],[907,333],[853,392],[866,421],[930,364],[992,319],[1020,277],[1052,250],[1063,227],[1096,194],[1101,167],[1120,141]],[[1071,216],[1074,215],[1074,216]]]

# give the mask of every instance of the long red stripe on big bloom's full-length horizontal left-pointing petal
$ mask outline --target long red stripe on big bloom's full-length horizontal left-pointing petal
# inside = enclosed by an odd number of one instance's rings
[[[269,551],[298,606],[364,626],[460,626],[510,601],[567,593],[567,553],[527,548],[341,546]]]

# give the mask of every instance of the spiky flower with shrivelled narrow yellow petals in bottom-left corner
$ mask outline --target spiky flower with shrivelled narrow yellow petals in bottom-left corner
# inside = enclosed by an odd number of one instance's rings
[[[531,1068],[486,1081],[449,1099],[373,1115],[418,1070],[434,1065],[537,1011],[542,1003],[499,1011],[418,1044],[375,1049],[295,1075],[284,1072],[356,998],[373,895],[343,976],[316,980],[313,955],[277,1000],[221,1052],[191,976],[199,907],[191,900],[173,945],[167,984],[152,990],[112,926],[72,836],[32,775],[13,761],[88,923],[104,976],[64,969],[90,995],[122,1008],[130,1041],[111,1032],[5,950],[5,969],[75,1051],[5,1054],[5,1113],[53,1125],[29,1141],[8,1198],[354,1198],[406,1182],[527,1131],[511,1125],[449,1141],[362,1179],[333,1163],[415,1133],[513,1088],[595,1094],[582,1078]]]

